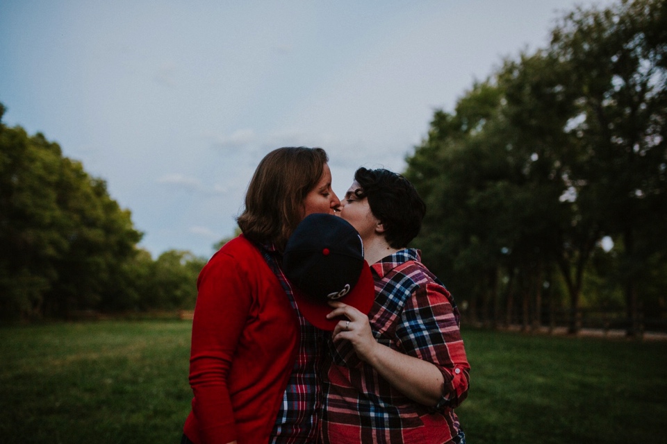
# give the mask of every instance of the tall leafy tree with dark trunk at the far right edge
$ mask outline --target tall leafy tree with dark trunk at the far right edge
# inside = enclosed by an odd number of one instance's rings
[[[639,282],[667,245],[667,2],[577,8],[553,32],[549,56],[568,74],[575,105],[566,131],[584,157],[572,170],[588,220],[623,239],[620,277],[628,334],[637,332]]]

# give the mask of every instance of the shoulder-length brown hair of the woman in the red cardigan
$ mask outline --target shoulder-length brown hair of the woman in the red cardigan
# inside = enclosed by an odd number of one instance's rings
[[[248,239],[273,242],[279,250],[303,218],[304,200],[329,161],[322,148],[283,147],[259,162],[236,219]]]

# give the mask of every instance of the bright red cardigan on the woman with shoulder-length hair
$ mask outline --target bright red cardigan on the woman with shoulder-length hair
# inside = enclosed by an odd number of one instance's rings
[[[197,280],[192,321],[195,444],[265,443],[299,344],[296,314],[259,250],[243,235],[211,257]]]

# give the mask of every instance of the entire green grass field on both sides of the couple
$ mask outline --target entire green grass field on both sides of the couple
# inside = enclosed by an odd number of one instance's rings
[[[667,341],[463,330],[468,444],[667,443]],[[0,328],[1,443],[179,443],[187,321]]]

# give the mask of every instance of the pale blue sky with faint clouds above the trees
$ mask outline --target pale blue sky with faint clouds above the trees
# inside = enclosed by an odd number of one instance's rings
[[[154,258],[210,257],[266,153],[324,148],[338,197],[358,167],[402,172],[435,110],[609,4],[2,0],[3,123],[106,180]]]

